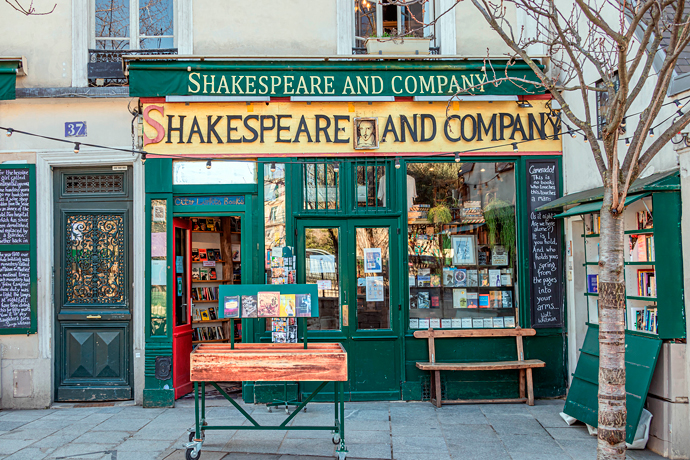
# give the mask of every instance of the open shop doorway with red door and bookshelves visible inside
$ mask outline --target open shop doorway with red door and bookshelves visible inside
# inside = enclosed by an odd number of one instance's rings
[[[173,305],[173,387],[175,399],[192,391],[189,355],[199,343],[241,341],[239,321],[220,318],[218,287],[241,284],[244,245],[242,214],[173,219],[175,289]],[[238,386],[239,387],[239,386]]]

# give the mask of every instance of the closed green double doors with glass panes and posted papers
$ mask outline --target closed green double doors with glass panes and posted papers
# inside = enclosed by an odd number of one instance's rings
[[[352,401],[400,399],[400,252],[397,219],[300,220],[301,283],[319,284],[310,340],[348,352]],[[312,388],[305,384],[303,393]]]

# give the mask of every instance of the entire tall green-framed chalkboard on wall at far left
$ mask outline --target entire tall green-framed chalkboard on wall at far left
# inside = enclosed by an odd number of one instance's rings
[[[36,168],[0,164],[0,334],[36,332]]]

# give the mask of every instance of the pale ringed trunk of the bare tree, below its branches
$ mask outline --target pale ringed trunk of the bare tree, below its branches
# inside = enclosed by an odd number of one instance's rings
[[[617,180],[614,178],[613,180]],[[625,459],[625,281],[623,215],[611,213],[605,182],[599,246],[599,427],[597,460]]]

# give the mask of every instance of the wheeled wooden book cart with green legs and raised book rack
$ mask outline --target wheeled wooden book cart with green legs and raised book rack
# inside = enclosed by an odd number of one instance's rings
[[[265,299],[295,298],[296,295],[310,296],[310,308],[297,306],[264,305]],[[243,307],[247,297],[247,315]],[[252,302],[258,298],[258,302]],[[345,395],[347,381],[347,353],[339,343],[312,343],[307,340],[306,318],[318,317],[318,292],[316,285],[236,285],[221,286],[219,299],[223,302],[221,314],[230,322],[239,318],[264,317],[262,313],[274,313],[272,317],[296,317],[298,327],[304,333],[303,343],[203,343],[197,345],[190,355],[190,379],[194,382],[195,426],[190,429],[189,443],[185,444],[186,458],[196,460],[201,455],[205,432],[209,430],[323,430],[333,433],[333,443],[338,445],[338,459],[347,456],[345,448]],[[257,308],[258,307],[258,308]],[[298,316],[299,315],[299,316]],[[232,339],[232,338],[231,338]],[[263,382],[321,382],[280,425],[260,425],[217,382],[263,381]],[[328,382],[334,382],[334,422],[332,425],[289,426],[302,409]],[[225,399],[251,423],[244,426],[211,425],[206,420],[206,385],[213,386]],[[270,406],[269,406],[270,407]]]

